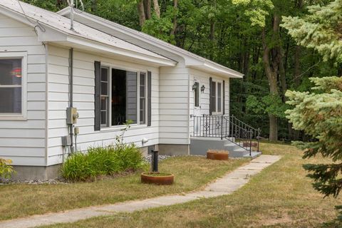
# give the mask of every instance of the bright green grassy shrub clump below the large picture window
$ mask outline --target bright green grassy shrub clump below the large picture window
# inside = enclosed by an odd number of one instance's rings
[[[62,166],[66,180],[94,180],[100,175],[136,171],[144,166],[138,147],[117,143],[115,146],[90,147],[87,153],[76,152]]]

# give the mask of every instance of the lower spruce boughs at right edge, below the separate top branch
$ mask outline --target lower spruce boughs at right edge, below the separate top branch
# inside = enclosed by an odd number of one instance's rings
[[[304,150],[304,158],[317,154],[330,157],[333,164],[307,164],[306,170],[313,172],[314,188],[324,195],[336,197],[342,188],[342,78],[311,78],[314,92],[288,91],[287,118],[296,130],[304,130],[313,142],[294,142]]]

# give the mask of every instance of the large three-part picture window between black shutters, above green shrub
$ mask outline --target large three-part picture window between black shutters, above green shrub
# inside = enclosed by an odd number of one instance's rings
[[[146,123],[147,73],[101,68],[101,125]]]

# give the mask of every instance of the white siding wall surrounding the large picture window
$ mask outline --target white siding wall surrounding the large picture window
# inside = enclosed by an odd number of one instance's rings
[[[66,108],[68,107],[68,49],[58,46],[48,48],[48,165],[62,162],[63,151],[61,136],[68,134],[66,125]],[[73,74],[74,94],[73,106],[78,108],[79,118],[76,126],[80,129],[77,138],[78,149],[86,150],[92,146],[110,145],[115,142],[116,135],[120,134],[122,126],[103,128],[94,131],[94,92],[95,75],[94,61],[100,61],[103,66],[124,68],[127,71],[152,72],[152,121],[151,126],[135,125],[125,133],[125,142],[134,142],[142,146],[142,138],[149,141],[143,146],[159,143],[159,71],[157,68],[143,66],[138,63],[129,63],[96,56],[93,53],[74,51]]]

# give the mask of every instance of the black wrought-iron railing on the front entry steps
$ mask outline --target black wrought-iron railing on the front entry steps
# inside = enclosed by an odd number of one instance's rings
[[[259,152],[260,130],[252,128],[234,116],[190,115],[191,137],[226,138],[235,145],[249,151]]]

